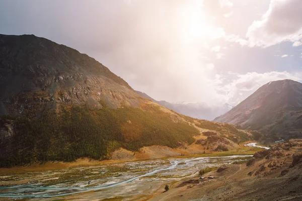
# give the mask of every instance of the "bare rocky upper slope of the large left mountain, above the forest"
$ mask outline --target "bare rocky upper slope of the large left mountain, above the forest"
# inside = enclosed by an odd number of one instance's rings
[[[138,107],[140,97],[77,50],[34,35],[0,35],[0,114],[35,115],[62,103]]]

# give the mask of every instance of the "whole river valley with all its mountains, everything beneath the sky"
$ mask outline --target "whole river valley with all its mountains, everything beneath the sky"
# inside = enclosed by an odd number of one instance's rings
[[[0,47],[1,201],[302,197],[299,82],[208,111],[45,38],[0,34]]]

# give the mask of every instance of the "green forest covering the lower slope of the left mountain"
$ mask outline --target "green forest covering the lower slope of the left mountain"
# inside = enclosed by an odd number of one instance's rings
[[[175,123],[158,107],[147,110],[88,109],[69,106],[59,114],[45,111],[39,117],[0,117],[0,128],[13,122],[14,135],[0,139],[0,167],[33,162],[73,161],[81,157],[109,159],[123,147],[138,151],[143,146],[192,144],[198,130]]]

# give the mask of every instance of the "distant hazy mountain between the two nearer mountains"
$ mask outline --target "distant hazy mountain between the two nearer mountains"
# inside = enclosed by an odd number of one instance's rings
[[[157,104],[165,106],[170,110],[196,119],[213,120],[215,117],[224,114],[233,108],[231,105],[226,103],[220,107],[209,106],[206,103],[199,102],[169,103],[165,100],[155,100],[154,98],[148,96],[146,93],[141,91],[136,91],[136,93],[142,97],[152,100]]]

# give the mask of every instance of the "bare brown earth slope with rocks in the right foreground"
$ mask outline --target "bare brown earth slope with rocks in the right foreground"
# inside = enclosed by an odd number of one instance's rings
[[[302,200],[302,139],[260,151],[251,161],[206,173],[204,180],[176,182],[150,200]]]

